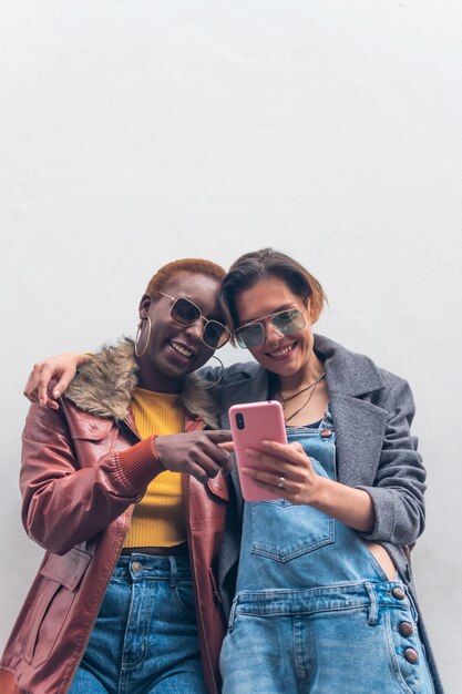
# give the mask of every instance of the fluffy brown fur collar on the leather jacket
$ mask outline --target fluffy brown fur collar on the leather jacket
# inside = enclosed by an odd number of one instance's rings
[[[66,397],[80,409],[99,417],[125,419],[137,384],[134,343],[124,338],[115,346],[103,347],[84,364],[66,390]],[[178,396],[189,417],[217,426],[217,406],[204,387],[204,379],[189,374]]]

